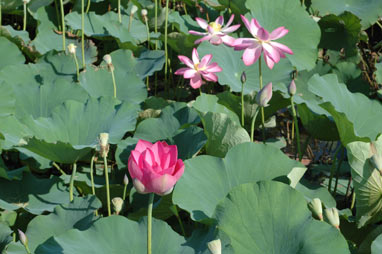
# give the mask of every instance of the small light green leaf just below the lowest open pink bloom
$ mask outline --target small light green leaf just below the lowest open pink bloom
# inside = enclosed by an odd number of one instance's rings
[[[240,124],[239,117],[235,112],[219,104],[218,101],[219,98],[216,95],[202,93],[196,98],[192,107],[203,114],[206,114],[207,112],[226,114],[233,120],[233,122]]]

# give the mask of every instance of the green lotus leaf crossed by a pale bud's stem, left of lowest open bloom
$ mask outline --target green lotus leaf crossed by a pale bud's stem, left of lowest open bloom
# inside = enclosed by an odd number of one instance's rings
[[[147,97],[142,79],[135,71],[137,61],[129,50],[117,50],[111,54],[117,87],[117,98],[129,103],[140,104]],[[80,85],[92,97],[113,96],[114,86],[107,68],[88,68],[80,74]]]

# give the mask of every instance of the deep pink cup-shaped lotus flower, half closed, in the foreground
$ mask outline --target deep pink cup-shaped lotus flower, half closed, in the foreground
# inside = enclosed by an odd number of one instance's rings
[[[167,195],[183,175],[184,163],[178,149],[164,141],[152,144],[140,139],[131,151],[128,169],[139,193]]]

